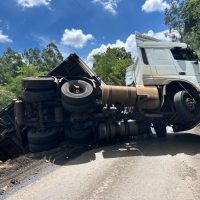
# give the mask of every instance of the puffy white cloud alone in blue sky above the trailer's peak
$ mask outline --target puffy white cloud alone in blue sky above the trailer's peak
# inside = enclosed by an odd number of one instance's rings
[[[65,29],[61,43],[65,46],[71,46],[74,48],[82,48],[90,40],[93,40],[92,34],[84,34],[80,29]]]

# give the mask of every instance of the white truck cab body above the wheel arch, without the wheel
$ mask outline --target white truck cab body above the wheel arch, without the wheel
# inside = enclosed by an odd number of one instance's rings
[[[180,80],[199,90],[200,63],[185,43],[166,42],[136,34],[138,58],[127,68],[126,85],[166,85]]]

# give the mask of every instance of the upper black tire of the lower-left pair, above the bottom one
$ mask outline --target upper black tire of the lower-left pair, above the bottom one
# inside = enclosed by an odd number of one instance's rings
[[[27,134],[28,143],[35,145],[49,144],[55,140],[59,140],[59,137],[57,129],[47,129],[43,132],[30,129]]]

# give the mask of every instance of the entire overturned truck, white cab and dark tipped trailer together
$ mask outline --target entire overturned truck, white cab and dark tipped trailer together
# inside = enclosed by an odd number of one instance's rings
[[[138,58],[128,86],[109,86],[71,54],[46,76],[27,77],[22,94],[0,112],[0,160],[56,147],[150,134],[166,136],[200,121],[200,65],[184,43],[136,35]]]

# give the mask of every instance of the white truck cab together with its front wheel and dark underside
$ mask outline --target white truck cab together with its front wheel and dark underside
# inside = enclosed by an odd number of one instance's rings
[[[136,34],[136,46],[138,56],[126,70],[126,85],[158,89],[159,109],[143,109],[153,119],[154,129],[159,134],[165,133],[166,125],[174,131],[196,126],[200,122],[200,62],[195,52],[185,43],[141,34]],[[150,93],[142,95],[149,97]]]

